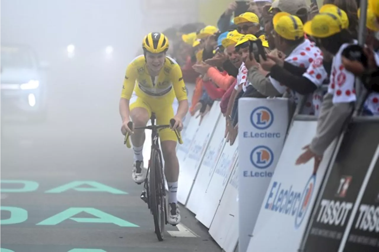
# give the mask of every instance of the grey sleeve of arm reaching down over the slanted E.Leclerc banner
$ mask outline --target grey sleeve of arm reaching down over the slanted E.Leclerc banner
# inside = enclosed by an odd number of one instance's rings
[[[340,134],[343,125],[352,113],[352,103],[333,104],[333,94],[324,96],[323,104],[317,121],[316,136],[309,146],[310,150],[318,156],[323,155],[327,147]]]

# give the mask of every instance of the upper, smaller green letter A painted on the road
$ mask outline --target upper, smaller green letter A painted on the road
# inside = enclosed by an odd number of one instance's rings
[[[88,187],[79,187],[83,185],[92,186],[92,188]],[[123,192],[121,190],[118,190],[116,188],[106,186],[105,184],[96,182],[96,181],[73,181],[68,184],[64,184],[63,186],[59,186],[56,188],[53,188],[51,190],[46,191],[45,193],[61,193],[64,191],[67,191],[69,189],[74,189],[78,192],[109,192],[112,194],[128,194],[127,192]]]

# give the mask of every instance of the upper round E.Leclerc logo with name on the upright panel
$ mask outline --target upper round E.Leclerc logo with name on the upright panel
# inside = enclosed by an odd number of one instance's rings
[[[274,113],[268,107],[255,108],[251,112],[250,121],[258,131],[244,131],[244,138],[280,138],[279,132],[268,130],[274,122]]]

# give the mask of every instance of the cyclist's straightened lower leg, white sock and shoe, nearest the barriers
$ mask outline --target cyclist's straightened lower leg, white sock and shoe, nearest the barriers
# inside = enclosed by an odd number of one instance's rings
[[[177,188],[179,179],[179,161],[176,156],[176,141],[161,142],[162,154],[164,158],[164,175],[168,185],[169,215],[168,222],[176,225],[180,222],[180,211],[177,205]]]

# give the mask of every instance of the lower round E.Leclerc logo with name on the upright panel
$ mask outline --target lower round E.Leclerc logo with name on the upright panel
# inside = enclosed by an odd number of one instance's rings
[[[272,177],[272,172],[263,171],[270,167],[274,162],[273,151],[264,145],[255,147],[250,153],[250,161],[254,167],[261,169],[262,171],[244,171],[244,177]]]

